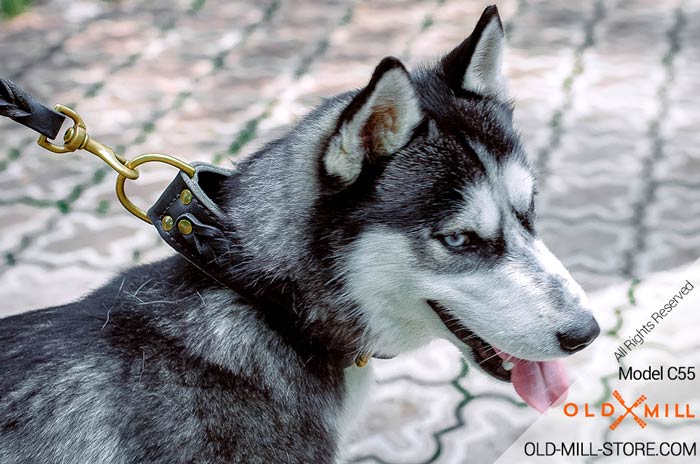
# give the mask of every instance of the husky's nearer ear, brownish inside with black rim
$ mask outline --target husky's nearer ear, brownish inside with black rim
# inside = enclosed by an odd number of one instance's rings
[[[323,160],[326,172],[352,184],[366,162],[408,143],[422,118],[408,71],[396,58],[384,58],[338,119]]]

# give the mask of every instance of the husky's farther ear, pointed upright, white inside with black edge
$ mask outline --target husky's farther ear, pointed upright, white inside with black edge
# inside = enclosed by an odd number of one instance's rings
[[[496,5],[481,14],[474,31],[441,62],[447,83],[455,94],[507,98],[501,72],[505,32]]]

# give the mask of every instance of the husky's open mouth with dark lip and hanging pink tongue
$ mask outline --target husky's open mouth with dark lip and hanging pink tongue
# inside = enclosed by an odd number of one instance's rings
[[[428,300],[428,304],[447,329],[471,348],[474,362],[492,377],[512,382],[515,391],[527,404],[544,412],[566,398],[569,379],[561,360],[516,358],[476,335],[436,301]]]

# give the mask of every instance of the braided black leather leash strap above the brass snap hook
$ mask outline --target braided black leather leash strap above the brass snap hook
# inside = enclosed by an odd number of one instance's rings
[[[50,139],[61,130],[64,115],[39,103],[9,79],[0,77],[0,116],[6,116]]]

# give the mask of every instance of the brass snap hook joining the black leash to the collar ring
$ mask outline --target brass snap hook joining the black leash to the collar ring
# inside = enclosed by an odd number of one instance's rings
[[[87,133],[85,121],[83,121],[83,118],[80,117],[77,112],[63,105],[56,105],[54,109],[71,118],[73,120],[73,127],[68,129],[63,135],[63,146],[49,142],[48,138],[42,135],[36,141],[40,147],[53,153],[71,153],[76,150],[86,150],[107,163],[107,165],[114,169],[120,176],[132,180],[138,179],[138,171],[126,166],[126,158],[115,153],[115,151],[107,145],[90,138]]]

